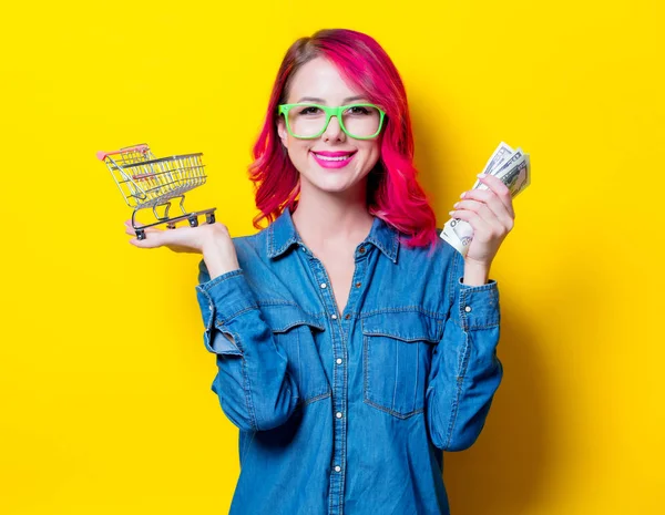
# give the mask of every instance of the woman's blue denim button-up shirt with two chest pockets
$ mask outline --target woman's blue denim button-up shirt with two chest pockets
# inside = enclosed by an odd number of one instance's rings
[[[477,440],[502,378],[497,281],[463,285],[447,243],[428,257],[375,217],[340,313],[288,209],[233,241],[241,268],[201,260],[196,286],[239,429],[229,513],[449,514],[442,451]]]

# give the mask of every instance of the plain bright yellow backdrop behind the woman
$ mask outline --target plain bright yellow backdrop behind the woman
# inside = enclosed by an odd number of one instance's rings
[[[2,18],[1,514],[227,513],[237,431],[209,390],[198,257],[127,244],[95,152],[203,152],[186,205],[253,234],[272,83],[324,27],[371,34],[400,70],[439,226],[499,142],[531,154],[491,272],[504,382],[477,444],[446,454],[453,515],[664,513],[659,1],[10,2]]]

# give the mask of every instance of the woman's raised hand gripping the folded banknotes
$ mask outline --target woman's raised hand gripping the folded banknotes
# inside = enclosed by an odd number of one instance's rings
[[[467,220],[473,227],[473,239],[464,261],[489,270],[499,246],[514,226],[515,212],[510,189],[500,178],[493,175],[479,178],[489,189],[464,192],[450,215]]]

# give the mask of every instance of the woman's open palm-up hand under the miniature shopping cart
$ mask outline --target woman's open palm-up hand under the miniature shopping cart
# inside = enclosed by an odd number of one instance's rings
[[[203,254],[211,279],[239,268],[237,255],[228,228],[216,222],[196,227],[175,229],[146,227],[145,239],[139,239],[131,220],[125,220],[125,233],[134,236],[130,244],[139,248],[166,247],[174,253]]]

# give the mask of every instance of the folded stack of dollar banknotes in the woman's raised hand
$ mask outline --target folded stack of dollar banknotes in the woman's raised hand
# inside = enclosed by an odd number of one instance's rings
[[[509,187],[510,194],[514,198],[531,184],[529,154],[524,154],[522,148],[513,151],[505,143],[501,142],[492,154],[492,157],[485,164],[482,173],[500,178]],[[472,189],[489,188],[480,181],[475,181]],[[440,236],[441,239],[450,244],[458,253],[467,257],[467,250],[473,239],[473,227],[467,220],[451,218],[443,226]]]

